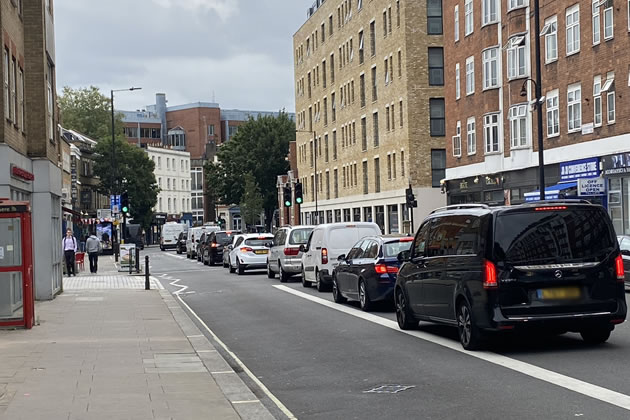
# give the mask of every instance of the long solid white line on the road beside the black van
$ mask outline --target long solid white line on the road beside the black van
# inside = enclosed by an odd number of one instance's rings
[[[335,309],[339,312],[343,312],[348,315],[355,316],[357,318],[364,319],[366,321],[373,322],[386,328],[398,331],[403,334],[411,335],[424,341],[428,341],[437,344],[442,347],[449,348],[459,353],[464,353],[468,356],[476,357],[477,359],[485,360],[486,362],[493,363],[495,365],[503,366],[504,368],[511,369],[513,371],[522,373],[523,375],[531,376],[532,378],[539,379],[541,381],[548,382],[553,385],[568,389],[570,391],[577,392],[587,397],[595,398],[597,400],[606,402],[608,404],[621,407],[625,410],[630,410],[630,396],[612,391],[607,388],[603,388],[598,385],[593,385],[588,382],[581,381],[579,379],[571,378],[570,376],[562,375],[551,370],[547,370],[526,362],[521,362],[516,359],[511,359],[500,354],[486,352],[486,351],[467,351],[464,350],[458,342],[449,340],[447,338],[439,337],[433,334],[429,334],[423,331],[404,331],[398,328],[398,323],[378,315],[365,313],[358,309],[353,309],[345,305],[340,305],[331,302],[326,299],[318,298],[308,293],[294,290],[287,286],[274,285],[276,289],[290,293],[292,295],[301,297],[311,302],[318,303],[322,306],[326,306],[331,309]]]

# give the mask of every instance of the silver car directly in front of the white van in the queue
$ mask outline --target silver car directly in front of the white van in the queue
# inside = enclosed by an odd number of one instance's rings
[[[302,272],[300,245],[308,242],[313,226],[285,226],[276,232],[267,257],[267,277],[280,275],[285,283],[295,274]]]

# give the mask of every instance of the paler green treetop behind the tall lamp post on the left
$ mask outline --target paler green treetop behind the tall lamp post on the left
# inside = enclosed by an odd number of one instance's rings
[[[96,86],[81,89],[66,86],[58,102],[61,110],[61,125],[64,128],[78,131],[97,141],[111,139],[111,100]],[[114,124],[117,137],[123,138],[121,114],[115,116]]]

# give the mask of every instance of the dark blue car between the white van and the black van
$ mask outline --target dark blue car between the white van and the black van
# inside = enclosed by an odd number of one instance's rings
[[[400,267],[398,254],[408,251],[412,236],[368,236],[341,254],[333,270],[333,298],[337,303],[358,300],[370,311],[374,302],[394,303],[394,286]]]

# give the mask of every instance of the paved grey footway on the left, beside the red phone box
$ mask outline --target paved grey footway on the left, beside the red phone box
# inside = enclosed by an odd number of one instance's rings
[[[0,330],[0,419],[273,418],[159,281],[99,264]]]

